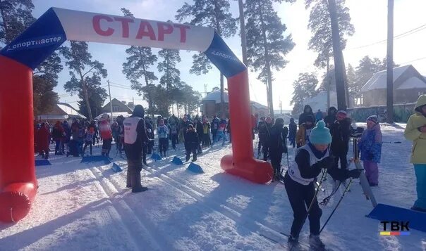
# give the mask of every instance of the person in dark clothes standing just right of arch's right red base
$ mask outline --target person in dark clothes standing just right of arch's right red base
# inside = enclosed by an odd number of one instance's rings
[[[288,128],[284,127],[284,120],[279,117],[275,120],[275,124],[271,127],[269,141],[269,156],[271,157],[271,165],[274,168],[273,180],[281,180],[281,160],[283,153],[287,153],[286,139]]]

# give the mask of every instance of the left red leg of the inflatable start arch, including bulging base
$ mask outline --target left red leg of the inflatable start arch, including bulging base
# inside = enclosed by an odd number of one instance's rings
[[[0,221],[23,219],[35,198],[32,70],[0,56]]]

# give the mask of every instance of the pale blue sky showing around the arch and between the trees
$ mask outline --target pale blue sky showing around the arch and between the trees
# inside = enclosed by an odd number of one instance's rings
[[[192,0],[187,0],[192,2]],[[33,15],[39,17],[47,11],[49,7],[69,8],[78,11],[90,11],[95,13],[107,13],[121,15],[120,8],[128,8],[136,18],[150,20],[173,20],[178,8],[181,8],[183,0],[33,0],[35,10]],[[300,72],[317,72],[322,75],[324,70],[315,68],[312,63],[316,55],[308,50],[308,40],[310,31],[308,30],[309,11],[305,10],[304,0],[298,0],[296,4],[275,4],[274,8],[287,26],[286,34],[291,34],[296,47],[288,53],[286,60],[290,63],[279,72],[274,72],[274,108],[279,109],[282,102],[283,109],[291,109],[290,100],[293,92],[293,82],[298,78]],[[358,61],[363,56],[384,58],[386,56],[386,43],[374,44],[387,38],[387,0],[346,0],[347,6],[351,10],[352,23],[355,26],[355,34],[348,39],[346,50],[343,51],[346,64],[358,65]],[[426,1],[424,0],[395,0],[394,6],[394,34],[407,32],[421,25],[425,25],[424,10]],[[231,12],[234,17],[238,16],[238,1],[231,0]],[[394,42],[394,61],[399,64],[413,64],[420,73],[426,74],[426,59],[416,60],[426,57],[424,41],[426,29],[410,34]],[[237,36],[225,39],[226,43],[236,55],[241,58],[240,38]],[[374,44],[374,45],[370,45]],[[370,45],[370,46],[365,46]],[[362,46],[362,48],[358,48]],[[111,87],[111,96],[121,101],[131,101],[135,98],[135,103],[145,105],[142,97],[135,91],[130,90],[130,83],[122,73],[122,63],[126,61],[125,50],[128,46],[116,44],[90,43],[89,50],[94,59],[104,63],[108,70],[108,77],[111,82],[128,86],[128,89]],[[153,49],[155,53],[159,49]],[[181,51],[182,62],[178,68],[181,70],[181,79],[193,86],[197,91],[204,92],[207,84],[207,91],[219,86],[219,71],[211,70],[207,75],[190,75],[189,69],[192,65],[193,52]],[[415,60],[415,61],[412,61]],[[157,72],[157,65],[152,67]],[[161,75],[157,74],[157,77]],[[256,79],[257,73],[250,73],[250,98],[262,104],[267,103],[266,89],[264,84]],[[59,77],[59,84],[56,91],[60,95],[60,101],[71,103],[77,106],[76,96],[69,96],[63,89],[63,84],[70,79],[68,69],[64,67]],[[102,81],[107,84],[107,79]]]

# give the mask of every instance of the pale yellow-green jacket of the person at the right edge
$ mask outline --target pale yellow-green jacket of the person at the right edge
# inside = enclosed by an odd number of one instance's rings
[[[406,131],[404,131],[406,139],[413,141],[411,150],[411,163],[413,164],[426,164],[426,134],[418,130],[418,127],[426,124],[425,115],[422,115],[418,110],[422,105],[426,105],[426,95],[418,98],[415,104],[415,114],[411,115],[407,122]]]

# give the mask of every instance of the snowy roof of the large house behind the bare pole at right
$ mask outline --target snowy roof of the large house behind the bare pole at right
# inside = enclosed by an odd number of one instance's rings
[[[398,79],[398,77],[400,77],[403,74],[403,72],[408,70],[408,68],[410,68],[410,67],[413,67],[413,65],[404,65],[404,66],[400,66],[400,67],[395,67],[394,68],[394,83],[395,83],[396,79]],[[415,80],[415,79],[418,79],[418,80]],[[410,82],[408,84],[405,84],[408,80],[410,80]],[[418,77],[410,77],[410,79],[407,79],[405,82],[403,82],[402,85],[412,86],[414,84],[414,85],[418,86],[420,84],[420,82],[424,82],[424,84],[426,85],[425,79],[419,79]],[[421,87],[423,88],[423,87],[425,87],[425,85],[421,84]],[[411,88],[413,88],[413,87],[411,87]],[[367,81],[367,83],[365,83],[365,85],[363,86],[361,91],[365,92],[365,91],[371,91],[371,90],[377,90],[377,89],[387,89],[387,70],[382,70],[380,72],[376,72],[375,75],[373,75]],[[401,86],[399,86],[397,89],[408,89],[408,88],[401,88]]]

